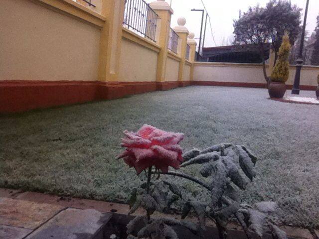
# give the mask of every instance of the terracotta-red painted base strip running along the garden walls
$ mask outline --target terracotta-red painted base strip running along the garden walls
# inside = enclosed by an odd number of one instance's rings
[[[98,81],[1,81],[0,113],[24,112],[97,100],[119,99],[129,95],[166,91],[177,87],[232,86],[266,88],[266,84],[184,81],[184,82],[118,82]],[[288,89],[292,86],[288,85]],[[301,90],[316,90],[314,86],[300,86]]]

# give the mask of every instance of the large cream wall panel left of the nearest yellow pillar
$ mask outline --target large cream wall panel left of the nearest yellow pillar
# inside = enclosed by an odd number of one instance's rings
[[[0,80],[96,81],[100,29],[29,0],[1,0]]]

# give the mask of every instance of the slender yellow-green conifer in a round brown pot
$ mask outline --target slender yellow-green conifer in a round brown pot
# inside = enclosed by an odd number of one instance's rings
[[[278,61],[270,76],[268,85],[268,93],[270,98],[283,98],[286,93],[286,84],[289,77],[289,52],[290,52],[289,36],[286,32],[283,36],[283,42],[279,48]]]

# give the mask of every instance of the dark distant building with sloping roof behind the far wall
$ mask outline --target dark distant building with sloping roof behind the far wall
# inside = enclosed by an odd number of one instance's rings
[[[265,60],[269,58],[270,43],[265,43]],[[200,61],[229,63],[262,63],[257,45],[204,47]]]

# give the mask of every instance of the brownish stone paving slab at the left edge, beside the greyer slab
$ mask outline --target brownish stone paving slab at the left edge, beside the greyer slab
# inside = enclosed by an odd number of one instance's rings
[[[0,198],[0,225],[34,230],[64,207]]]

